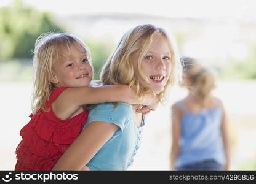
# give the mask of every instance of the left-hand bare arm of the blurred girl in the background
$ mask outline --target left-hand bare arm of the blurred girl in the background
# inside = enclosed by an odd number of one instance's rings
[[[182,118],[182,110],[177,104],[172,105],[172,148],[170,152],[170,169],[175,169],[175,160],[180,152],[180,120]]]

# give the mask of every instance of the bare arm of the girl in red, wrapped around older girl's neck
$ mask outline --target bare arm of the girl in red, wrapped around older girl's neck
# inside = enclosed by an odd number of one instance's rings
[[[84,104],[99,104],[106,102],[127,102],[129,104],[148,105],[150,109],[158,106],[158,97],[146,94],[143,98],[135,98],[134,91],[128,85],[106,85],[100,87],[84,86],[68,88],[52,104],[55,115],[65,120]]]

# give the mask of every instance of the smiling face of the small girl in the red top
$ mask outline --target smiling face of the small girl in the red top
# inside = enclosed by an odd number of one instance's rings
[[[57,87],[81,87],[89,85],[93,69],[86,53],[72,48],[73,54],[61,56],[54,63],[54,77],[50,80]]]

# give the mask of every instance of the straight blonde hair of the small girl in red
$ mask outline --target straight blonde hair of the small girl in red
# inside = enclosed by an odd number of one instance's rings
[[[90,61],[89,48],[72,34],[46,33],[41,34],[36,40],[33,57],[33,114],[36,114],[39,109],[45,112],[49,111],[49,109],[46,109],[45,103],[49,100],[50,93],[55,88],[54,84],[50,82],[50,78],[54,76],[53,65],[61,56],[72,55],[73,48],[86,53]]]

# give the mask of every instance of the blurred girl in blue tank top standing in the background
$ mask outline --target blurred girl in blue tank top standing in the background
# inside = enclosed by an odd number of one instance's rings
[[[194,59],[185,58],[182,63],[189,93],[172,105],[171,169],[228,169],[226,113],[220,99],[211,94],[214,77]]]

